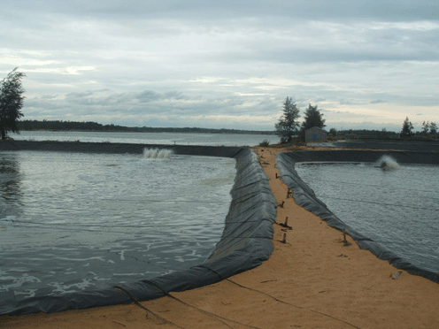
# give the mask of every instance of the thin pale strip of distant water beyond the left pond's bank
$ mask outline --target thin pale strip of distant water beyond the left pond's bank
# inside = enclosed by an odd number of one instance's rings
[[[105,132],[21,132],[15,140],[128,142],[138,144],[256,146],[264,140],[279,142],[273,134],[177,134],[177,133],[105,133]]]

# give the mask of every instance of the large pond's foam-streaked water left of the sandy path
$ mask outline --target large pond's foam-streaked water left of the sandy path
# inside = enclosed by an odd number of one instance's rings
[[[0,152],[0,297],[202,263],[224,228],[235,160],[147,155]]]

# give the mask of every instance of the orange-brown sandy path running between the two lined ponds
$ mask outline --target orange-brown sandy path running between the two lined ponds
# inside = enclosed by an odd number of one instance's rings
[[[284,232],[274,225],[273,255],[264,264],[212,286],[142,302],[142,308],[133,303],[4,316],[0,327],[439,328],[439,285],[407,272],[391,279],[396,268],[355,243],[345,247],[342,233],[287,198],[274,167],[273,154],[281,149],[256,151],[273,195],[284,202],[277,222],[289,217],[293,227]]]

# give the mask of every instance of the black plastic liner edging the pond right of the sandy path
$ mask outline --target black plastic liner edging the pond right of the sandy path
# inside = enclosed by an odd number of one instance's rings
[[[346,225],[340,218],[337,218],[325,203],[322,203],[314,194],[311,187],[300,179],[296,170],[297,162],[308,161],[334,161],[334,162],[376,162],[380,157],[387,155],[393,157],[401,164],[424,164],[438,165],[439,153],[437,152],[409,152],[409,151],[373,151],[373,150],[321,150],[321,151],[297,151],[290,153],[279,153],[276,155],[276,167],[281,173],[281,180],[294,191],[296,203],[304,209],[311,211],[327,222],[328,226],[339,230],[346,230],[360,249],[370,250],[380,259],[389,261],[397,269],[405,270],[415,275],[420,275],[439,283],[439,274],[420,269],[398,257],[389,250],[384,249],[380,243],[375,242],[356,230]]]

